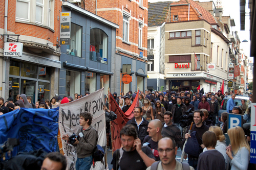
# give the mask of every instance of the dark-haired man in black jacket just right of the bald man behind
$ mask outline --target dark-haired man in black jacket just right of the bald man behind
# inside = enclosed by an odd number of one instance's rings
[[[164,122],[165,124],[163,125],[162,129],[162,135],[163,137],[170,137],[175,140],[176,147],[182,150],[183,145],[182,145],[182,137],[181,137],[181,132],[180,128],[173,124],[173,114],[172,112],[165,112],[164,113]]]

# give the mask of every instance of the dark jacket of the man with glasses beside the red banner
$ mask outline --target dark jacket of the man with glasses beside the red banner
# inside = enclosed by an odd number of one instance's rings
[[[146,135],[148,135],[148,132],[147,132],[147,125],[148,125],[148,121],[146,119],[143,119],[143,122],[140,124],[139,126],[139,130],[138,130],[138,126],[137,126],[137,123],[135,121],[135,117],[132,119],[132,120],[129,120],[126,125],[133,125],[137,131],[137,134],[138,134],[138,138],[140,139],[140,141],[143,141],[144,140],[144,137]]]

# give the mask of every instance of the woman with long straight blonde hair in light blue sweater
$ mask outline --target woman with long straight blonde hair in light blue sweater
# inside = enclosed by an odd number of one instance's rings
[[[231,145],[226,148],[226,154],[229,157],[231,170],[247,169],[250,160],[250,146],[245,138],[244,130],[236,126],[228,129],[227,134]]]

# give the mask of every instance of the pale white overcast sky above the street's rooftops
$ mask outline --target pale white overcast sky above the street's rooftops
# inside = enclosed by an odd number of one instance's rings
[[[167,0],[148,0],[149,3],[164,2]],[[173,0],[175,2],[177,0]],[[199,0],[200,2],[209,2],[210,0]],[[213,0],[214,3],[216,0]],[[248,3],[248,0],[246,0]],[[248,4],[246,6],[246,12],[249,13]],[[250,56],[250,35],[249,35],[249,16],[245,17],[245,31],[240,31],[240,0],[222,0],[223,16],[230,16],[234,19],[236,27],[230,28],[230,31],[238,31],[238,35],[241,41],[240,48],[244,49],[244,53]],[[242,42],[246,39],[248,42]]]

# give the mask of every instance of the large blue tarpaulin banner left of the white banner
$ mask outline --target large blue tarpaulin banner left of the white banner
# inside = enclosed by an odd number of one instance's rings
[[[46,152],[58,150],[58,108],[20,108],[0,116],[0,144],[8,138],[18,138],[18,152],[29,152],[42,148]]]

